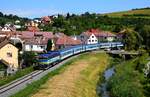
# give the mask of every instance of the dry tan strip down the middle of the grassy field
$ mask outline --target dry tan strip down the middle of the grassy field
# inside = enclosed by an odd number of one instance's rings
[[[78,79],[80,72],[88,64],[84,61],[74,63],[63,74],[57,75],[50,79],[42,89],[32,97],[70,97],[75,94],[75,81]]]

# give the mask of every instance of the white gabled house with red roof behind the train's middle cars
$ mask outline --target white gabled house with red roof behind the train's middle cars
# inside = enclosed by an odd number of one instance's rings
[[[96,44],[100,42],[111,42],[114,41],[116,35],[99,29],[90,29],[86,32],[81,33],[78,37],[84,44]]]

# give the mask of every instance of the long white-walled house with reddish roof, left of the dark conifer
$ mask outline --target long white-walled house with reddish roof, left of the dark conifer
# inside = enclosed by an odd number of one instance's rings
[[[52,32],[22,32],[20,38],[24,41],[24,51],[43,52],[49,39],[53,42]],[[54,44],[52,45],[54,47]]]

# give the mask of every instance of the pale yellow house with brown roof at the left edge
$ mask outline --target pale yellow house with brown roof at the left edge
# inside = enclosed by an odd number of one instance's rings
[[[18,48],[6,37],[0,37],[0,65],[6,67],[7,74],[14,73],[19,68]]]

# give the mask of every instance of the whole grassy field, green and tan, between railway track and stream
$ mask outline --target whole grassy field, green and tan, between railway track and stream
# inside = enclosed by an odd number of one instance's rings
[[[108,59],[105,53],[83,54],[12,97],[97,97],[96,86]]]

